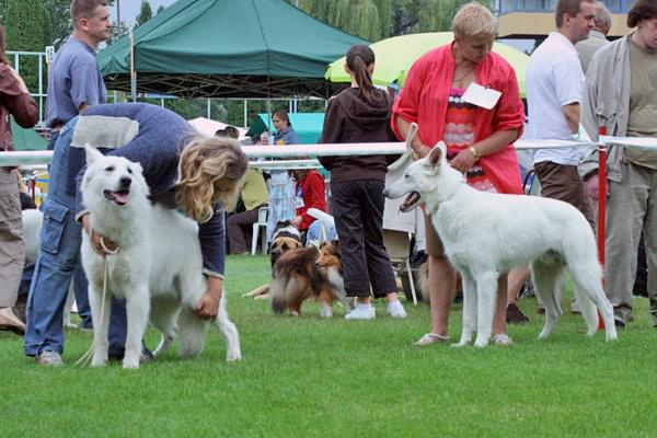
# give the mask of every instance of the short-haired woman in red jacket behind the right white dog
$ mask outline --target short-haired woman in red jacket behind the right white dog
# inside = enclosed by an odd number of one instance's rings
[[[450,165],[466,174],[468,184],[487,192],[521,194],[518,158],[512,142],[520,137],[525,108],[514,68],[491,51],[495,19],[477,3],[464,4],[452,21],[454,41],[425,54],[411,68],[393,107],[392,128],[405,139],[411,123],[418,132],[413,149],[419,157],[443,140]],[[473,83],[500,92],[492,108],[463,99]],[[415,343],[425,346],[449,342],[449,309],[456,272],[430,220],[425,221],[429,256],[431,332]],[[506,334],[506,274],[499,276],[493,341],[509,345]]]

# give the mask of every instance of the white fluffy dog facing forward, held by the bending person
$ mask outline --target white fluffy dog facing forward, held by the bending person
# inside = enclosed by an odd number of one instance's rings
[[[93,251],[87,233],[82,233],[82,265],[89,278],[93,315],[91,365],[100,367],[107,361],[112,296],[127,302],[124,368],[139,368],[149,312],[150,322],[162,332],[155,355],[169,349],[176,332],[181,356],[198,355],[205,343],[207,321],[196,318],[193,311],[206,290],[196,222],[173,209],[151,205],[138,163],[105,157],[90,147],[85,149],[88,168],[82,196],[91,227],[118,246],[116,254],[103,257]],[[105,263],[107,290],[103,302]],[[226,293],[214,323],[226,339],[227,360],[241,359],[238,330],[226,312]]]

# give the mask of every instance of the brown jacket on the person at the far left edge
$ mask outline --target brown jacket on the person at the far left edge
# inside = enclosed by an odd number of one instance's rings
[[[38,122],[38,107],[32,96],[21,90],[10,67],[0,62],[0,152],[14,150],[10,115],[22,127],[31,128]]]

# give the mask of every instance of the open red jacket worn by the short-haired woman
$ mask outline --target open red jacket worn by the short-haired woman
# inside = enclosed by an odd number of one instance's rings
[[[451,44],[440,46],[419,58],[408,72],[400,99],[392,108],[392,129],[403,140],[396,127],[396,117],[416,122],[423,143],[433,147],[442,140],[449,89],[454,73]],[[498,130],[519,129],[525,125],[525,106],[520,100],[514,68],[496,53],[489,53],[474,67],[476,83],[500,91],[502,96],[492,110],[476,108],[475,138],[480,141]],[[479,163],[499,193],[522,193],[518,158],[512,145]]]

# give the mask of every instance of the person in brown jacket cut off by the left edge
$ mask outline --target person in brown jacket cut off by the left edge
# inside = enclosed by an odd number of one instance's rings
[[[14,150],[10,115],[19,125],[30,128],[38,120],[38,108],[25,82],[7,60],[4,28],[0,25],[0,153]],[[16,168],[0,168],[0,330],[23,334],[25,324],[12,310],[25,258],[16,172]]]

